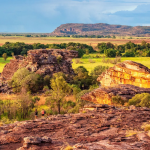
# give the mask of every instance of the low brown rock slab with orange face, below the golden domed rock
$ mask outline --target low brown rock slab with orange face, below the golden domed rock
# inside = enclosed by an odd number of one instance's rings
[[[136,94],[150,93],[150,88],[140,88],[130,84],[119,84],[115,87],[100,87],[81,98],[95,104],[112,104],[113,96],[120,96],[124,101],[128,101]]]

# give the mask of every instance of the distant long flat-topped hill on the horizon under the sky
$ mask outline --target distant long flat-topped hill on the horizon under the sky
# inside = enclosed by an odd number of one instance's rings
[[[62,24],[50,35],[122,35],[122,36],[150,36],[150,26],[126,26],[97,24]]]

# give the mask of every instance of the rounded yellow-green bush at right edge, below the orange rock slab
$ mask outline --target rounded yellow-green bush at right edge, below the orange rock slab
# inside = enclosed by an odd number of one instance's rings
[[[132,99],[129,100],[128,104],[150,108],[150,94],[149,93],[136,94],[134,97],[132,97]]]

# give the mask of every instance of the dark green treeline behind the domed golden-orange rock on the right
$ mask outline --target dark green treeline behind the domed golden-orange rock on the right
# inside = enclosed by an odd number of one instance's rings
[[[142,41],[141,44],[135,44],[131,41],[123,45],[114,45],[108,43],[98,43],[98,52],[105,54],[106,57],[150,57],[150,43]]]

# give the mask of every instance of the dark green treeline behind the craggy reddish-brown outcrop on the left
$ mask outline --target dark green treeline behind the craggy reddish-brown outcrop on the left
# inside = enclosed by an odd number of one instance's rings
[[[92,46],[87,44],[81,43],[73,43],[70,42],[68,44],[61,43],[61,44],[41,44],[41,43],[34,43],[34,44],[25,44],[23,42],[16,42],[10,43],[6,42],[4,45],[0,46],[0,57],[6,53],[8,56],[14,55],[26,55],[28,50],[33,49],[68,49],[68,50],[76,50],[79,53],[79,57],[82,57],[86,51],[89,53],[95,52]]]

